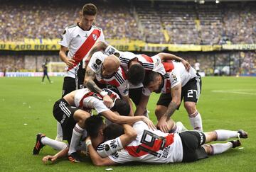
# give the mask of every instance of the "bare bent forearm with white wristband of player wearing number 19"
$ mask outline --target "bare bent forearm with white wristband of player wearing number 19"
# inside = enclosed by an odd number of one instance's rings
[[[109,157],[102,158],[99,154],[97,154],[97,151],[95,151],[94,147],[92,147],[92,141],[90,140],[90,137],[87,137],[86,141],[86,147],[89,149],[90,158],[92,159],[92,163],[95,166],[113,166],[117,163],[112,161]]]

